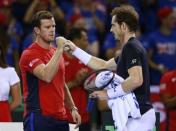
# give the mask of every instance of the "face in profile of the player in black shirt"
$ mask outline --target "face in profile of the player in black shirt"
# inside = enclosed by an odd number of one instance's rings
[[[110,31],[113,33],[115,39],[119,39],[119,37],[122,35],[121,26],[115,21],[115,16],[112,17]]]

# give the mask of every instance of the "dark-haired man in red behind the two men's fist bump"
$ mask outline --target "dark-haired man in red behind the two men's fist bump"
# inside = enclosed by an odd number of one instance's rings
[[[83,50],[87,49],[88,38],[87,32],[83,28],[72,28],[69,33],[69,39]],[[65,81],[70,89],[70,93],[75,102],[76,107],[81,115],[81,125],[79,131],[90,131],[90,118],[86,111],[88,94],[84,89],[83,80],[91,71],[86,65],[84,65],[79,59],[64,53],[65,60]],[[67,110],[68,121],[74,123],[71,113]]]

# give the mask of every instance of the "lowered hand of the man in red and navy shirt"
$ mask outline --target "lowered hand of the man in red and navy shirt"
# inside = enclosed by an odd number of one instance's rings
[[[73,117],[73,121],[76,123],[75,129],[78,128],[81,124],[81,116],[78,113],[77,109],[71,110],[71,115]]]

